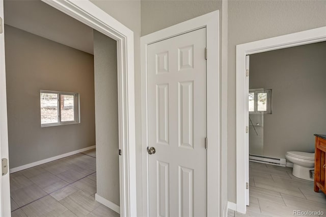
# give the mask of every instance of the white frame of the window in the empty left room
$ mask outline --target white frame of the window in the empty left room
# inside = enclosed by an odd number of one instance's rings
[[[42,124],[41,119],[41,127],[49,127],[49,126],[59,126],[59,125],[67,125],[67,124],[78,124],[80,123],[80,97],[78,93],[71,93],[71,92],[61,92],[61,91],[48,91],[48,90],[40,90],[41,93],[51,93],[58,95],[58,122],[57,123],[47,123]],[[74,120],[73,121],[61,121],[61,95],[70,95],[73,96],[74,101]],[[41,101],[40,101],[41,103]],[[41,111],[41,104],[40,104],[40,111]]]

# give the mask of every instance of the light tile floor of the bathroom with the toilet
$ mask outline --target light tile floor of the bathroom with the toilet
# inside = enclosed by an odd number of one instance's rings
[[[326,216],[326,196],[314,192],[312,181],[294,177],[292,168],[250,162],[249,178],[247,213],[229,210],[229,217],[294,216],[293,210],[320,210]]]

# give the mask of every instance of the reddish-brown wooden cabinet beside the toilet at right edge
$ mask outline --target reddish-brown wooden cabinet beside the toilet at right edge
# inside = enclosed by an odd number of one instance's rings
[[[314,191],[326,194],[326,135],[315,134],[315,178]]]

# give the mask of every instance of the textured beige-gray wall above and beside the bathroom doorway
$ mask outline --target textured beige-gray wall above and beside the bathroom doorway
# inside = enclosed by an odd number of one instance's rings
[[[228,199],[236,202],[235,46],[326,25],[326,1],[228,1]]]

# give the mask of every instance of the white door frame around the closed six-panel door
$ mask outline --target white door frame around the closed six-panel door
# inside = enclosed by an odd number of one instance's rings
[[[207,216],[220,216],[220,44],[219,11],[141,37],[143,216],[148,213],[147,45],[206,27],[207,46]],[[203,53],[204,55],[204,53]]]

